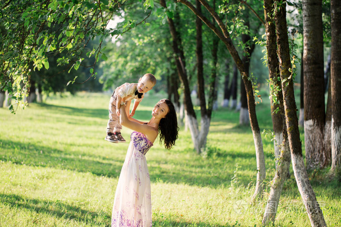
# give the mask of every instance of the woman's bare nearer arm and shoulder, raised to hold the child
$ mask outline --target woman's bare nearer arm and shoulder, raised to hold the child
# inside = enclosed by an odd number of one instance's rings
[[[141,132],[147,137],[148,140],[154,142],[158,134],[157,128],[152,127],[148,124],[143,124],[143,122],[139,122],[132,117],[128,117],[128,114],[125,111],[125,105],[121,105],[120,110],[120,124],[122,126],[130,128],[136,132]]]

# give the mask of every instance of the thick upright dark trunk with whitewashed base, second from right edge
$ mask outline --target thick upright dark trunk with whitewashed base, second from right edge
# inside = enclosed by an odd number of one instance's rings
[[[304,141],[307,169],[325,160],[322,0],[303,0]]]

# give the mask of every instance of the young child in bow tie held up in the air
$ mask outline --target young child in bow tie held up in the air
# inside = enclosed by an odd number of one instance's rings
[[[107,136],[105,140],[109,142],[125,142],[121,135],[122,125],[119,123],[120,106],[126,105],[126,111],[129,113],[132,99],[135,99],[130,116],[133,117],[135,110],[141,100],[144,98],[144,93],[151,90],[156,84],[156,79],[153,74],[144,74],[137,84],[124,83],[114,90],[109,102],[109,121],[107,125]]]

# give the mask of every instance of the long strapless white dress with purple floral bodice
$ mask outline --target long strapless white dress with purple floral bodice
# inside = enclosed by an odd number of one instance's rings
[[[152,142],[140,132],[133,132],[118,179],[112,227],[151,227],[151,180],[145,154]]]

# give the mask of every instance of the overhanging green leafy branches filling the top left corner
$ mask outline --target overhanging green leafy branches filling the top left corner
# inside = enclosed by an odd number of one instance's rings
[[[125,1],[108,0],[8,0],[0,9],[0,90],[7,90],[19,104],[29,89],[31,73],[50,68],[51,56],[68,71],[83,65],[80,57],[88,42],[99,45],[87,53],[95,57],[86,67],[107,57],[101,43],[121,30],[107,28]],[[92,70],[91,76],[96,75]],[[71,83],[73,83],[72,81]],[[13,106],[11,110],[14,111]]]

